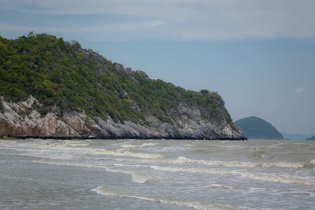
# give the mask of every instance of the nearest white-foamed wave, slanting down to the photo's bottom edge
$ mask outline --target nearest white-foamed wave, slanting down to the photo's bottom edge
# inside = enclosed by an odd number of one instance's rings
[[[153,202],[161,202],[161,203],[166,203],[166,204],[185,206],[188,208],[201,209],[201,210],[232,210],[234,209],[229,206],[211,204],[211,203],[200,202],[200,201],[172,200],[172,199],[167,199],[167,198],[157,198],[157,197],[135,195],[133,193],[131,194],[131,193],[121,192],[121,191],[109,188],[107,186],[100,186],[95,189],[92,189],[92,191],[95,191],[103,195],[135,198],[135,199],[141,199],[141,200],[147,200],[147,201],[153,201]]]

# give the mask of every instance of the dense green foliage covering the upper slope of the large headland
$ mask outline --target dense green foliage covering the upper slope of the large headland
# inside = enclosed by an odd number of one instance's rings
[[[33,95],[44,106],[85,111],[88,116],[139,123],[152,114],[170,122],[168,110],[181,104],[204,107],[202,117],[225,118],[234,128],[221,97],[214,92],[194,92],[142,71],[113,63],[76,41],[65,42],[48,34],[30,32],[15,40],[0,36],[0,94],[14,101]]]

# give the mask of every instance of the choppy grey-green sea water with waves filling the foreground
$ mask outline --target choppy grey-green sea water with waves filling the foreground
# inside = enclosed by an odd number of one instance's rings
[[[315,141],[0,140],[0,209],[314,209]]]

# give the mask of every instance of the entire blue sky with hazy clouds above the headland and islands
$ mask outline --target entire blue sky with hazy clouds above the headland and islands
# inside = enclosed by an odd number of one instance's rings
[[[233,121],[315,132],[313,0],[0,0],[0,35],[48,33],[187,90]]]

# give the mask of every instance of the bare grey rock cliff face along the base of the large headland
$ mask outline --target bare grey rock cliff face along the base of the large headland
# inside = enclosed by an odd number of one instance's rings
[[[224,103],[224,102],[222,102]],[[241,130],[233,130],[223,119],[219,123],[204,121],[199,109],[191,109],[183,104],[176,110],[169,110],[171,123],[164,123],[154,116],[147,116],[149,126],[125,121],[115,123],[88,117],[84,110],[60,110],[42,116],[36,109],[42,105],[30,96],[24,102],[7,102],[0,98],[0,135],[14,137],[44,138],[143,138],[143,139],[245,139]]]

